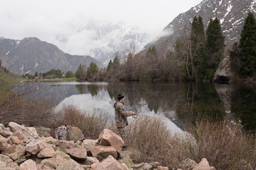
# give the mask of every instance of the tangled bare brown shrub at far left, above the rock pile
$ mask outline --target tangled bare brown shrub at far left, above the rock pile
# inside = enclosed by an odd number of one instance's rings
[[[1,90],[0,122],[10,121],[27,126],[46,126],[54,114],[51,99],[40,94],[38,82],[24,82],[15,89]]]

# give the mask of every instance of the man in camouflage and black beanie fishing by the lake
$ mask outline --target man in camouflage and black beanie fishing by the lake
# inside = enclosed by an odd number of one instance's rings
[[[136,115],[132,111],[126,111],[124,101],[124,95],[118,94],[117,99],[118,101],[115,102],[114,108],[115,108],[115,124],[117,126],[117,134],[124,139],[125,137],[125,127],[128,125],[127,117]],[[125,147],[125,146],[123,146]]]

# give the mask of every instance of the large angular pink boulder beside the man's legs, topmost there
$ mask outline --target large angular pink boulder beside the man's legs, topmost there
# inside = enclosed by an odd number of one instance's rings
[[[104,129],[101,132],[98,141],[99,145],[114,147],[118,156],[120,155],[122,146],[124,144],[122,138],[109,129]]]

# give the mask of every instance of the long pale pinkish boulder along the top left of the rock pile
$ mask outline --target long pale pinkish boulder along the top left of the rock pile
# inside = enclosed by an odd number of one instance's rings
[[[21,130],[23,133],[26,134],[26,136],[28,138],[33,137],[35,139],[38,139],[37,130],[33,127],[25,128],[24,126],[19,125],[19,124],[14,123],[14,122],[10,122],[8,125],[9,125],[9,128],[10,128],[11,132],[16,132],[17,130]]]

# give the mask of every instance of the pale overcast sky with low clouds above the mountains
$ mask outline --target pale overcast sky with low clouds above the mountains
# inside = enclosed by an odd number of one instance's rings
[[[202,0],[0,1],[0,37],[14,40],[37,37],[58,46],[54,38],[57,33],[64,32],[61,25],[79,13],[102,21],[124,21],[127,24],[134,24],[155,38],[177,15],[198,5]],[[64,47],[59,48],[68,52],[63,49]],[[81,53],[88,53],[88,50],[81,51],[78,55],[89,55]]]

